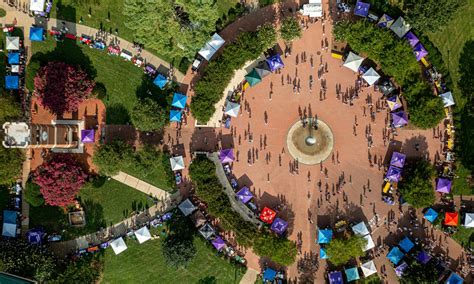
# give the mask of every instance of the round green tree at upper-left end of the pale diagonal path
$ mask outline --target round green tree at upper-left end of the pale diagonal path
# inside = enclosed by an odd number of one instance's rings
[[[95,149],[92,161],[99,173],[107,176],[117,174],[123,167],[130,165],[133,157],[132,146],[122,140],[102,144]]]

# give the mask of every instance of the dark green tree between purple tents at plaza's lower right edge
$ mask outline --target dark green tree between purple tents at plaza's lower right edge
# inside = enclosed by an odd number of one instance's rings
[[[398,190],[403,198],[415,208],[433,205],[435,194],[433,189],[434,167],[426,160],[418,160],[405,167],[403,180]]]

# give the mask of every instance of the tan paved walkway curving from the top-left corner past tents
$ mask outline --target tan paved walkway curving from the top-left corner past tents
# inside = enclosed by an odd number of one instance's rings
[[[0,8],[3,8],[7,11],[7,15],[1,19],[1,23],[3,25],[5,24],[12,24],[13,21],[16,19],[17,26],[18,27],[24,27],[24,32],[25,32],[25,47],[27,50],[28,54],[28,59],[31,56],[31,52],[28,52],[28,50],[31,47],[31,42],[29,40],[29,27],[31,27],[33,24],[35,24],[35,18],[30,17],[28,14],[25,14],[21,11],[16,10],[14,7],[8,6],[6,3],[2,2],[0,3]],[[99,30],[95,28],[91,28],[85,25],[77,24],[77,23],[72,23],[72,22],[67,22],[67,21],[61,21],[57,20],[54,18],[49,19],[47,21],[47,28],[48,30],[51,30],[52,27],[57,27],[59,22],[59,26],[62,27],[63,24],[66,24],[66,27],[69,29],[70,33],[76,34],[76,35],[90,35],[90,36],[95,36]],[[132,53],[132,55],[136,55],[137,51],[133,48],[133,44],[129,41],[126,41],[120,37],[116,36],[110,36],[107,38],[107,43],[109,43],[111,40],[116,40],[116,42],[119,44],[121,49],[128,50]],[[105,52],[105,51],[104,51]],[[153,55],[152,53],[143,50],[141,53],[141,57],[145,59],[145,62],[150,63],[157,67],[159,70],[169,70],[171,67],[171,64],[164,61],[163,59],[157,57],[156,55]],[[130,63],[132,64],[132,63]],[[184,74],[178,71],[177,69],[173,70],[173,80],[181,83],[184,79]]]

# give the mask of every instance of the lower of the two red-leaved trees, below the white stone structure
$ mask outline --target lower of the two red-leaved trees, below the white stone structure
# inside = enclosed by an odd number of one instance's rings
[[[57,154],[34,173],[44,200],[51,206],[67,206],[74,201],[87,175],[70,155]]]

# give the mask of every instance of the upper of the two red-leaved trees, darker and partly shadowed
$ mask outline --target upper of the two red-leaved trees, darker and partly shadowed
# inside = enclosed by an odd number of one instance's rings
[[[76,111],[94,86],[86,72],[64,62],[49,62],[35,77],[35,94],[40,104],[57,115]]]

